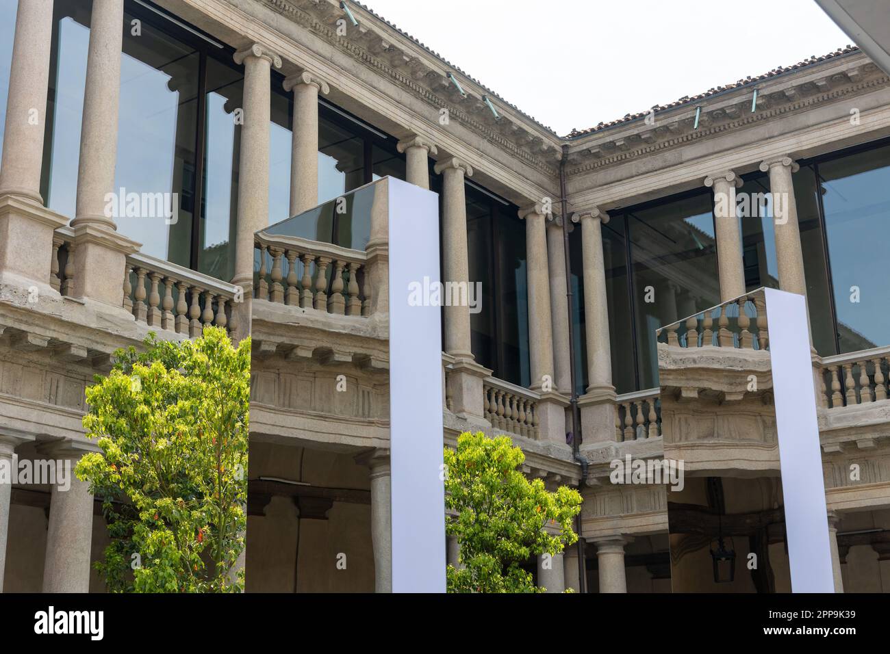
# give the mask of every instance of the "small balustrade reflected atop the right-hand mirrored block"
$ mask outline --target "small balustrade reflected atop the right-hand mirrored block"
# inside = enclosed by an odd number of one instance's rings
[[[681,348],[726,347],[769,350],[763,291],[742,295],[661,327],[659,343]]]

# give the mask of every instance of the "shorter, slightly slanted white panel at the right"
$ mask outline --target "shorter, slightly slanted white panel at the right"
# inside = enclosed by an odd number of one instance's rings
[[[806,302],[765,291],[791,591],[834,593]]]

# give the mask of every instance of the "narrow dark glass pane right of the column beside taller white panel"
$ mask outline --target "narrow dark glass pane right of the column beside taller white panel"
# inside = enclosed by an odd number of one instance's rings
[[[470,186],[466,190],[466,237],[470,283],[481,282],[481,311],[470,314],[473,355],[481,366],[495,369],[498,353],[495,309],[495,261],[492,243],[491,199]],[[443,281],[449,281],[444,279]],[[497,371],[495,376],[498,376]]]

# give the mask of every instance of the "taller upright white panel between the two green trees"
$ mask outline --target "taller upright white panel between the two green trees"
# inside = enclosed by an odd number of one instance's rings
[[[392,592],[445,592],[441,307],[410,306],[438,282],[439,198],[389,178]]]

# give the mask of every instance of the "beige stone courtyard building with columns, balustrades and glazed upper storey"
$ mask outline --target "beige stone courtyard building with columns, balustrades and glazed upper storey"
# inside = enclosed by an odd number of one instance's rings
[[[667,490],[611,462],[663,456],[656,329],[688,318],[663,345],[690,349],[766,286],[809,303],[837,589],[890,591],[886,73],[848,47],[561,137],[347,6],[0,0],[0,456],[93,448],[85,385],[149,331],[250,333],[247,591],[389,590],[386,230],[362,194],[392,175],[440,194],[442,279],[482,282],[481,311],[443,311],[444,443],[506,433],[584,497],[539,584],[670,590]],[[740,213],[765,193],[784,206]],[[698,343],[676,387],[725,419],[690,456],[743,468],[752,399],[713,350],[744,339]],[[0,484],[4,591],[101,591],[71,484]]]

